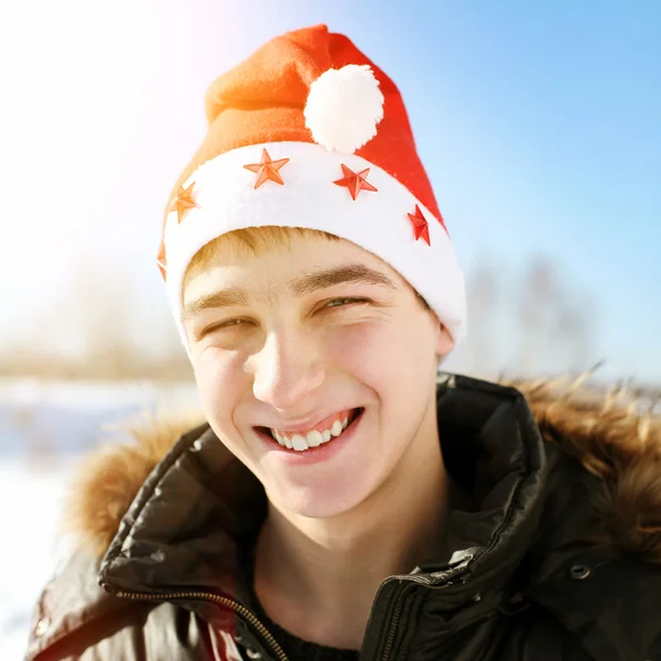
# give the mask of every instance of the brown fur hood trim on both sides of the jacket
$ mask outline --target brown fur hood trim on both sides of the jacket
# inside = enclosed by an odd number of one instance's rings
[[[544,440],[603,480],[598,505],[609,545],[661,563],[661,418],[626,391],[606,394],[576,381],[509,381],[521,391]],[[101,556],[151,470],[199,413],[145,415],[122,429],[132,441],[96,451],[72,485],[63,532]]]

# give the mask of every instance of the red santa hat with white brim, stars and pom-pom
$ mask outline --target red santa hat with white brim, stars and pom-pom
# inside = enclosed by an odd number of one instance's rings
[[[205,106],[208,132],[172,192],[159,251],[177,323],[203,246],[240,228],[307,227],[388,262],[460,339],[464,278],[402,97],[346,36],[325,25],[278,36],[217,78]]]

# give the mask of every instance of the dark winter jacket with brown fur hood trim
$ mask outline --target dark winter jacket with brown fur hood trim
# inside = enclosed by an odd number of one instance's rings
[[[444,459],[478,507],[451,512],[433,561],[382,582],[360,659],[661,659],[661,422],[519,386],[440,382]],[[156,425],[82,473],[79,548],[28,659],[288,658],[238,571],[263,488],[208,426],[177,436]]]

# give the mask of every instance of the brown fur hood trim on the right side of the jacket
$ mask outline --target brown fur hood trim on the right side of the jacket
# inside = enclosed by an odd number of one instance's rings
[[[525,395],[543,438],[602,479],[604,542],[661,563],[661,418],[625,388],[597,392],[586,378],[510,384]]]

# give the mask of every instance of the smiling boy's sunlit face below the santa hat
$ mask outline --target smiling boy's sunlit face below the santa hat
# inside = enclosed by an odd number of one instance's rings
[[[303,281],[343,268],[345,277],[368,269],[381,282]],[[221,294],[229,289],[245,300]],[[306,517],[351,510],[399,481],[408,453],[420,457],[421,444],[435,442],[436,367],[453,343],[372,253],[321,237],[293,237],[291,248],[257,258],[220,247],[183,295],[207,420],[277,507]],[[350,421],[356,410],[355,422],[314,449],[286,449],[267,432],[306,437],[294,430],[303,426],[323,437],[334,418]]]

